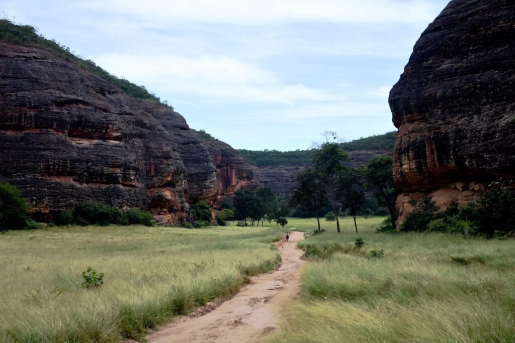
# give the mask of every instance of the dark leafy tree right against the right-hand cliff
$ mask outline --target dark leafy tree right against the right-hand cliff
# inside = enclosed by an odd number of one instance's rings
[[[391,156],[375,156],[365,168],[365,187],[371,190],[380,205],[384,205],[390,212],[393,227],[397,222],[398,213],[395,206],[397,192],[393,188]]]

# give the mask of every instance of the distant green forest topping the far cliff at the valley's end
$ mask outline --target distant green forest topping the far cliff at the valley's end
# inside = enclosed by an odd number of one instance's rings
[[[346,151],[356,150],[393,150],[397,138],[397,131],[387,132],[383,135],[360,138],[350,142],[341,143],[340,146]],[[304,165],[311,162],[311,150],[296,151],[253,151],[239,149],[239,154],[248,164],[254,166],[274,165]]]

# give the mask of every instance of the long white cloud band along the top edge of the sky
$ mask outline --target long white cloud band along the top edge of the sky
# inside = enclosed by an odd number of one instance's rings
[[[431,1],[422,0],[93,0],[83,6],[146,16],[150,25],[170,22],[237,25],[416,23],[432,20],[435,8]]]

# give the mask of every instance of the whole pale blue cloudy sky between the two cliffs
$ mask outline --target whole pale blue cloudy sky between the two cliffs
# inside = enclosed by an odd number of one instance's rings
[[[236,149],[394,127],[388,92],[448,0],[0,0],[16,23],[167,100]]]

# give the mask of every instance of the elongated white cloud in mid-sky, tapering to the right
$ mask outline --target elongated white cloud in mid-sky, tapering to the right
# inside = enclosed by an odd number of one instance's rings
[[[159,94],[194,95],[204,101],[292,103],[295,101],[342,101],[304,84],[285,84],[273,74],[230,57],[175,55],[143,56],[110,54],[95,58],[112,73],[140,84],[151,84]]]

